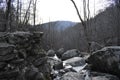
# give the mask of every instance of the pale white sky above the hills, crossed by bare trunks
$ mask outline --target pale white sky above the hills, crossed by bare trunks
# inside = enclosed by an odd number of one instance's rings
[[[83,0],[74,0],[83,18]],[[108,7],[111,0],[90,0],[90,16],[98,14]],[[94,8],[95,7],[95,8]],[[38,0],[36,23],[49,21],[72,21],[80,22],[71,0]]]

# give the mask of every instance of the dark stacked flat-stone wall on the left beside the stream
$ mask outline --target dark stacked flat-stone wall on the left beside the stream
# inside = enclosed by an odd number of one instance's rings
[[[0,35],[0,80],[51,80],[41,32]]]

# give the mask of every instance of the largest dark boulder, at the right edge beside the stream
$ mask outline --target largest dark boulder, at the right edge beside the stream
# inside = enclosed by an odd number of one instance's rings
[[[89,58],[92,70],[120,77],[120,47],[110,46],[94,52]]]

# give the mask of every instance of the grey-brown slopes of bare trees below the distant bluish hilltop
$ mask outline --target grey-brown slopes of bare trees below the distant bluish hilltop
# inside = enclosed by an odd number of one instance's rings
[[[120,37],[119,12],[117,6],[111,6],[90,19],[89,27],[87,26],[87,37],[89,42],[94,41],[102,46],[117,45]],[[48,39],[45,35],[43,37],[45,42],[48,42],[48,44],[43,45],[49,46],[49,48],[51,48],[50,46],[52,45],[52,48],[55,49],[64,47],[65,49],[77,48],[80,50],[86,50],[89,46],[85,40],[84,28],[81,23],[78,23],[73,27],[68,27],[64,31],[54,30],[54,27],[51,28],[52,29],[49,30],[49,32],[43,30],[43,32],[51,38]]]

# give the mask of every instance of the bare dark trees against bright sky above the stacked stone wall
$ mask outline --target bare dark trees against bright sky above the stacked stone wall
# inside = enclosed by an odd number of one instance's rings
[[[27,4],[26,4],[27,3]],[[36,5],[37,0],[1,0],[0,31],[15,31],[25,28],[31,24],[36,24]]]

